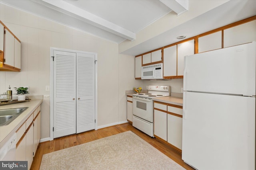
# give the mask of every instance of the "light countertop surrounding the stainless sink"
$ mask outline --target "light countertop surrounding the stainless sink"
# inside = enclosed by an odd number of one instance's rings
[[[18,130],[18,128],[26,121],[26,119],[28,119],[28,117],[42,103],[42,101],[43,101],[42,99],[30,100],[29,102],[0,106],[0,109],[28,107],[28,109],[26,109],[23,113],[21,113],[9,125],[0,127],[0,148]]]

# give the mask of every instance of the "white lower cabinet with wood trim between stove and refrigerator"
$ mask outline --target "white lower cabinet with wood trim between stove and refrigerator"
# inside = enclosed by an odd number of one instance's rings
[[[182,106],[154,102],[154,136],[181,152]]]

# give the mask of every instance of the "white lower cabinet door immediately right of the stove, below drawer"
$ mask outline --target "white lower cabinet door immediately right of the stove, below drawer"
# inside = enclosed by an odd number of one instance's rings
[[[154,109],[154,135],[167,141],[167,113]]]

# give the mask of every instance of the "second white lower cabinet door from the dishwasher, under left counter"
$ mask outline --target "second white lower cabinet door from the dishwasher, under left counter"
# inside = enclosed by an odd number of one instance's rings
[[[28,161],[28,169],[33,161],[33,151],[34,151],[34,137],[33,137],[33,125],[28,128],[26,133],[26,161]]]

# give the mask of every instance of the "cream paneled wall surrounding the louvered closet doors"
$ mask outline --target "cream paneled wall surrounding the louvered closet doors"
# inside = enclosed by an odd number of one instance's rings
[[[0,72],[0,93],[7,87],[29,86],[30,96],[49,95],[45,86],[50,85],[50,47],[98,53],[98,127],[124,121],[126,108],[118,109],[120,96],[125,93],[126,82],[134,81],[133,57],[119,57],[118,44],[66,27],[16,8],[0,4],[0,20],[20,39],[21,72]],[[121,63],[122,66],[118,66]],[[132,65],[131,68],[129,65]],[[120,73],[126,82],[120,82]],[[123,79],[124,77],[120,78]],[[122,88],[118,88],[122,86]],[[42,138],[50,137],[50,99],[44,98],[42,107]],[[119,116],[120,115],[120,116]],[[120,119],[118,118],[120,117]],[[125,118],[126,120],[126,118]]]

